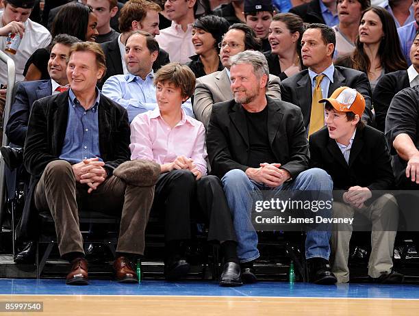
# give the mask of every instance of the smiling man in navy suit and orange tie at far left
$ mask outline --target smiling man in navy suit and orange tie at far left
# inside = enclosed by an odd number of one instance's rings
[[[10,111],[6,135],[13,144],[23,147],[27,131],[29,112],[36,100],[67,89],[67,58],[70,47],[78,38],[67,34],[55,36],[48,61],[50,80],[21,81],[18,83],[16,98]]]

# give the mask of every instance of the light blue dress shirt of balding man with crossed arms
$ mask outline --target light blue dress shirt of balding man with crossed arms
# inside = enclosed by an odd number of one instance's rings
[[[127,109],[131,123],[138,114],[153,111],[157,107],[153,79],[153,70],[145,80],[132,74],[115,75],[105,81],[102,93]],[[190,99],[182,104],[182,108],[188,116],[194,117]]]

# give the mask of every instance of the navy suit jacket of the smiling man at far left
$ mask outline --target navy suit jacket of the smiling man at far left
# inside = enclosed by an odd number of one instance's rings
[[[51,94],[51,80],[21,81],[18,83],[15,101],[6,125],[6,135],[8,135],[10,142],[23,147],[32,105],[36,100]]]

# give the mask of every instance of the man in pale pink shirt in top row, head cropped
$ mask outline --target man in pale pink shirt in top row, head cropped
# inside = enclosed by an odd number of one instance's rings
[[[170,62],[186,64],[195,55],[192,44],[192,23],[196,0],[167,0],[164,4],[166,17],[172,25],[162,29],[155,37],[162,49],[168,52]]]

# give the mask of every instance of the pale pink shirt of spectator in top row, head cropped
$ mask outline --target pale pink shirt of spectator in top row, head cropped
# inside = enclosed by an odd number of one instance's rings
[[[170,62],[186,64],[190,62],[189,57],[195,55],[194,44],[192,44],[192,24],[188,24],[188,29],[184,32],[181,25],[172,21],[170,27],[160,30],[155,40],[161,49],[168,52]]]

